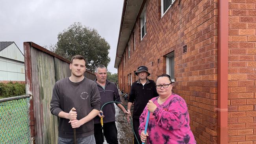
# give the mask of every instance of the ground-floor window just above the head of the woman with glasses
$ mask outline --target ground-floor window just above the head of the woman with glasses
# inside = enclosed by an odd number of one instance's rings
[[[166,74],[169,74],[174,82],[174,52],[166,55]]]

